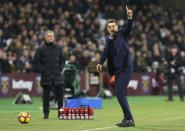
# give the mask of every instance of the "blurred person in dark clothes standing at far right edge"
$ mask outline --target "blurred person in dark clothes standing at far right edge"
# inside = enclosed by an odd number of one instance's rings
[[[183,65],[182,59],[178,52],[178,47],[173,45],[170,49],[170,53],[166,57],[164,63],[167,66],[166,77],[167,77],[167,86],[168,86],[168,101],[173,101],[173,83],[175,82],[178,86],[178,93],[180,100],[184,101],[183,88],[181,84],[181,67]]]

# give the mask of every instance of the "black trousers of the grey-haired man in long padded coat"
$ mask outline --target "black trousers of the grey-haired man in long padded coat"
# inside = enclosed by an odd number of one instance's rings
[[[43,113],[44,115],[49,115],[49,100],[50,92],[53,91],[54,97],[57,101],[58,110],[63,107],[63,98],[64,98],[64,87],[63,85],[53,87],[43,87]]]

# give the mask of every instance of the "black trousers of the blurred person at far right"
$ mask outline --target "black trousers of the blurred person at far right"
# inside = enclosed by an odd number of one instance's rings
[[[173,83],[176,83],[178,86],[178,94],[180,96],[180,100],[183,101],[184,100],[184,91],[182,88],[182,84],[181,84],[181,79],[180,79],[180,75],[174,75],[174,77],[170,77],[167,79],[167,86],[168,86],[168,100],[173,100],[173,90],[172,90],[172,86]]]

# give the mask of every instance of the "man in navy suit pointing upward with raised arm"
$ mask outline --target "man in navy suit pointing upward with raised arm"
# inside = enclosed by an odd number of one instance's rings
[[[116,124],[118,127],[135,126],[126,98],[127,86],[133,72],[133,64],[127,41],[133,23],[133,11],[128,9],[127,6],[126,11],[128,23],[125,28],[118,30],[115,20],[111,19],[107,21],[106,29],[108,36],[106,36],[106,45],[97,65],[97,71],[101,72],[102,65],[106,58],[108,58],[109,73],[116,76],[116,95],[124,114],[122,122]]]

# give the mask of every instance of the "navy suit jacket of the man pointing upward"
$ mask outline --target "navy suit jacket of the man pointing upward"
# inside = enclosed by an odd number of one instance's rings
[[[113,44],[116,49],[116,55],[114,57],[114,61],[108,62],[108,68],[109,68],[109,73],[110,75],[113,74],[118,74],[122,71],[124,71],[125,67],[133,68],[132,60],[131,60],[131,54],[129,52],[129,45],[128,45],[128,40],[127,37],[129,33],[131,32],[133,25],[132,20],[128,20],[128,23],[125,28],[121,28],[114,37]],[[109,56],[109,50],[110,49],[110,38],[109,36],[106,36],[106,45],[103,51],[103,54],[100,58],[99,64],[103,65],[104,61],[108,58]],[[109,61],[109,58],[108,58]],[[114,68],[112,69],[110,64],[114,64]],[[114,73],[113,73],[114,72]]]

